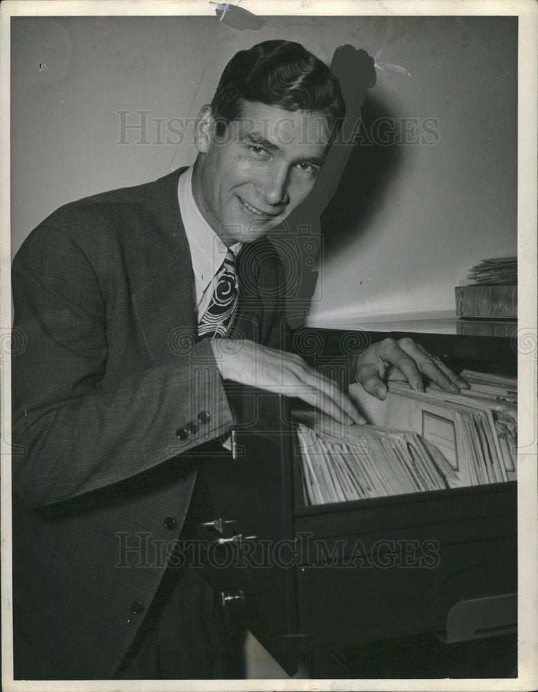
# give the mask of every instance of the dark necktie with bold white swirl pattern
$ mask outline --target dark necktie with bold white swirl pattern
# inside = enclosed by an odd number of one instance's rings
[[[235,255],[228,249],[216,275],[216,286],[211,302],[198,325],[198,336],[201,339],[219,338],[228,334],[228,328],[232,324],[236,311],[238,294]]]

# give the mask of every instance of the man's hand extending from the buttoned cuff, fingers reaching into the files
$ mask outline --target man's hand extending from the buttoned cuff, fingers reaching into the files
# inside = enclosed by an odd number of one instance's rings
[[[211,346],[223,379],[298,397],[338,423],[365,422],[337,385],[300,356],[247,339],[212,339]]]

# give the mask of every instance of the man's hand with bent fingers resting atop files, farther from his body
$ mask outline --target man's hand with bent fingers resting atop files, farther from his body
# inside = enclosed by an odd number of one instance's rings
[[[423,378],[453,394],[470,388],[465,380],[410,338],[398,341],[387,338],[372,344],[353,360],[353,370],[364,389],[382,401],[387,398],[385,383],[390,380],[407,381],[416,392],[424,392]]]

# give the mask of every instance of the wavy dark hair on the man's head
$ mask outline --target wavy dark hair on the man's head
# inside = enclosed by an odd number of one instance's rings
[[[341,122],[346,113],[331,70],[292,41],[263,41],[232,57],[211,102],[217,134],[223,134],[224,123],[241,118],[245,101],[286,111],[319,111],[330,125]]]

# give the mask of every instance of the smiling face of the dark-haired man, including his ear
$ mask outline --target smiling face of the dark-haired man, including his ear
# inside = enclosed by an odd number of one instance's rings
[[[210,109],[200,122],[194,199],[228,245],[266,235],[304,201],[331,134],[322,113],[263,103],[245,102],[241,119],[230,122],[220,139]]]

